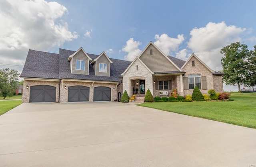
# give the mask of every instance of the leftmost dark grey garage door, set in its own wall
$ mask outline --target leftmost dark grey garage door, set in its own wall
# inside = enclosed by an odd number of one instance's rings
[[[56,87],[49,85],[31,86],[29,102],[56,102]]]

